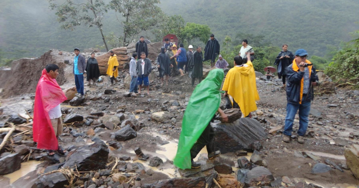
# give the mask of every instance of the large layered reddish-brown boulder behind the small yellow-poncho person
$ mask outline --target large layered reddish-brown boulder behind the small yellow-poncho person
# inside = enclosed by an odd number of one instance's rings
[[[125,67],[126,63],[130,62],[130,58],[127,55],[127,48],[126,47],[120,47],[120,48],[114,48],[112,49],[113,53],[116,54],[117,61],[118,61],[118,70],[121,70]],[[158,55],[158,54],[157,54]],[[96,60],[98,62],[98,67],[100,69],[101,74],[106,74],[107,72],[107,63],[108,59],[110,57],[109,52],[103,55],[96,56]]]

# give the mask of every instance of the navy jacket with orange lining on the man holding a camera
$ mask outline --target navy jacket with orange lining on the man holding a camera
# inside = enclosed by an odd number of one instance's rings
[[[311,63],[310,61],[306,60],[306,63]],[[286,84],[286,94],[287,94],[287,101],[292,104],[302,104],[302,101],[311,101],[314,99],[313,95],[313,86],[312,82],[318,81],[318,76],[314,67],[309,68],[309,92],[307,96],[303,97],[303,77],[304,72],[300,72],[295,63],[295,59],[293,63],[288,66],[287,69],[287,84]]]

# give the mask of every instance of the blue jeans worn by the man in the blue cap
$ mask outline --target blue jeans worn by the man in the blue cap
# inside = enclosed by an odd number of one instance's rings
[[[304,98],[304,96],[303,96]],[[302,104],[287,103],[287,115],[285,116],[284,134],[291,136],[293,131],[293,122],[295,114],[299,109],[299,130],[298,135],[304,136],[306,134],[309,123],[309,111],[311,110],[311,101],[302,101]]]

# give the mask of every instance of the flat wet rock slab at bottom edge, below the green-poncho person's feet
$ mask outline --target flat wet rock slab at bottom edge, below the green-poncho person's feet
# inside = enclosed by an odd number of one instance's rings
[[[194,178],[172,178],[144,184],[142,188],[205,188],[206,179],[204,177]]]

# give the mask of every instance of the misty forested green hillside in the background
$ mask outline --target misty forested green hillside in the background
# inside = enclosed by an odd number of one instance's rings
[[[107,1],[105,1],[107,2]],[[351,40],[349,32],[359,29],[359,4],[355,0],[162,0],[168,14],[181,14],[185,22],[206,24],[221,45],[225,36],[233,41],[252,33],[264,42],[290,50],[308,49],[310,55],[324,56],[327,47]],[[6,58],[42,55],[48,49],[71,51],[102,46],[97,28],[60,28],[55,10],[47,0],[0,1],[0,49]],[[121,35],[122,27],[114,12],[104,14],[103,31]],[[154,38],[150,32],[144,33]],[[251,41],[250,41],[251,42]],[[233,43],[236,45],[236,43]],[[251,45],[251,43],[250,43]]]

